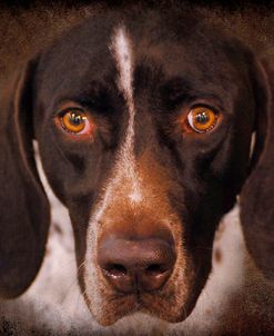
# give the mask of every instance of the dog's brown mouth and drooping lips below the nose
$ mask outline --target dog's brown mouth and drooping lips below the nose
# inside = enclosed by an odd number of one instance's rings
[[[196,281],[190,279],[194,274],[191,271],[187,276],[185,268],[184,271],[175,268],[162,288],[150,291],[136,288],[131,293],[121,293],[106,286],[97,275],[95,280],[89,278],[90,281],[85,281],[83,295],[91,315],[103,326],[113,325],[135,313],[179,323],[191,314],[200,295],[200,290],[194,289]]]

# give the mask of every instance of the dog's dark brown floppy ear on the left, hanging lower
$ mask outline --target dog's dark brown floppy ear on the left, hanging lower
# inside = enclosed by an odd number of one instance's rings
[[[32,148],[37,60],[0,91],[0,298],[23,293],[41,265],[50,208]]]

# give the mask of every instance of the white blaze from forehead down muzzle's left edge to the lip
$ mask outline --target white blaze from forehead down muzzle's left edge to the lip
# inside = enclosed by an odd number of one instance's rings
[[[89,228],[87,235],[87,253],[85,253],[85,271],[84,283],[87,296],[93,303],[92,310],[99,314],[101,310],[102,297],[99,288],[101,281],[98,276],[98,267],[95,261],[97,243],[99,235],[99,226],[103,225],[103,215],[108,207],[115,201],[116,191],[122,190],[122,197],[130,200],[132,205],[142,201],[141,194],[141,178],[136,171],[136,164],[134,158],[134,102],[133,102],[133,48],[124,28],[115,30],[110,50],[115,59],[118,69],[118,87],[123,93],[126,102],[126,110],[129,113],[129,123],[124,140],[118,151],[113,167],[111,167],[111,176],[106,180],[104,189],[102,190],[101,199],[95,205],[93,214],[89,220]]]

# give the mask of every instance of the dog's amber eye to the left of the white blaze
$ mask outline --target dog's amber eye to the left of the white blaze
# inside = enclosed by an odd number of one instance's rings
[[[63,129],[72,134],[83,132],[89,126],[89,120],[81,109],[68,109],[60,121]]]

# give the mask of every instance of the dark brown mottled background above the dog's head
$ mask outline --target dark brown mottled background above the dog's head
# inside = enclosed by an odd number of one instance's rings
[[[260,57],[274,60],[274,6],[272,1],[0,1],[0,80],[52,39],[84,18],[108,9],[142,3],[182,11],[219,23],[248,43]]]

